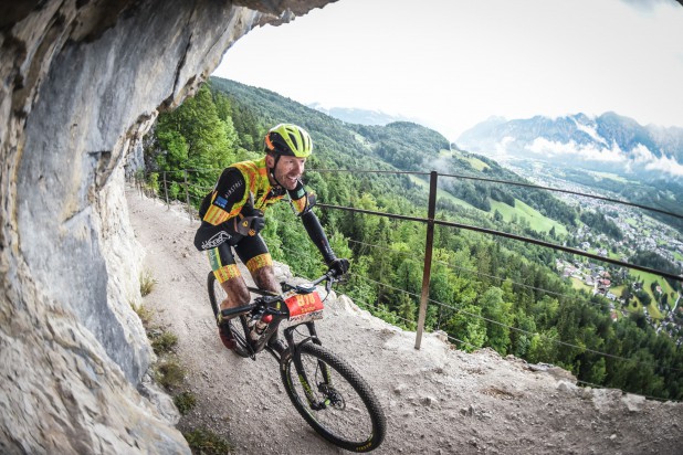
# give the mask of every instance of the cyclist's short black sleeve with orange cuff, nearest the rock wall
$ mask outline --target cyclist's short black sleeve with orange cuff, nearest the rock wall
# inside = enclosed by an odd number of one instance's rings
[[[237,216],[244,204],[246,182],[244,176],[235,168],[227,168],[210,193],[211,203],[202,221],[219,225]]]

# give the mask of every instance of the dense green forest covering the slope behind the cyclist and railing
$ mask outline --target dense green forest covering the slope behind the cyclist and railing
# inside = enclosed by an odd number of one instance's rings
[[[301,125],[313,137],[314,155],[304,182],[322,204],[425,218],[422,173],[431,169],[523,181],[493,160],[452,149],[443,136],[422,126],[346,124],[273,92],[216,77],[182,106],[159,115],[145,138],[140,174],[160,198],[183,202],[188,198],[197,207],[224,167],[261,157],[265,131],[282,121]],[[540,190],[456,177],[439,181],[443,191],[437,204],[439,220],[563,240],[555,228],[538,230],[516,216],[505,221],[491,207],[497,201],[513,210],[522,201],[564,225],[596,222],[602,232],[616,228],[603,216],[579,213]],[[340,292],[374,315],[414,330],[425,224],[315,210],[337,255],[351,262]],[[266,221],[262,234],[274,260],[301,276],[314,277],[325,269],[287,203],[270,209]],[[683,400],[680,343],[658,335],[642,311],[613,320],[606,298],[575,289],[558,275],[553,268],[557,258],[569,257],[547,247],[438,225],[425,329],[445,331],[458,349],[491,347],[501,356],[560,366],[585,384]],[[654,261],[644,253],[643,258]],[[621,273],[606,268],[612,275]]]

